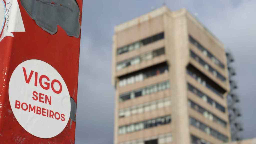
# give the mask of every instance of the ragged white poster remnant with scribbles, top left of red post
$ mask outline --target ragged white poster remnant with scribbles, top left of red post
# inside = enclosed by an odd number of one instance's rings
[[[0,42],[6,36],[14,37],[13,32],[25,32],[17,0],[0,0]]]

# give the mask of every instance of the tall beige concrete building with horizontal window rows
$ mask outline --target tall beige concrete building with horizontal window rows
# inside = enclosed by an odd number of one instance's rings
[[[223,44],[185,9],[115,27],[114,144],[230,141]]]

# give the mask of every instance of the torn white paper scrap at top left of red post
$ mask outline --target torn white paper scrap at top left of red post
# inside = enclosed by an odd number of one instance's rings
[[[12,32],[25,32],[17,0],[6,0],[5,3],[5,25],[0,37],[0,42],[6,36],[14,37]]]

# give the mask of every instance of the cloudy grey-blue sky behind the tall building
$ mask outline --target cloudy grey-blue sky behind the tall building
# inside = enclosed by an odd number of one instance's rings
[[[164,0],[83,1],[76,144],[112,144],[111,84],[114,26],[159,8]],[[166,0],[171,11],[186,8],[234,55],[245,139],[256,137],[256,1]]]

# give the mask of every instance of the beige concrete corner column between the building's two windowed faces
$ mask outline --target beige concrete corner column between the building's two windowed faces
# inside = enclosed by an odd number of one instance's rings
[[[187,20],[184,9],[164,16],[165,46],[170,69],[173,142],[190,143],[187,106],[186,65],[188,63]]]

